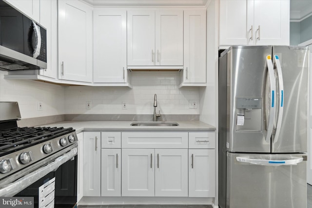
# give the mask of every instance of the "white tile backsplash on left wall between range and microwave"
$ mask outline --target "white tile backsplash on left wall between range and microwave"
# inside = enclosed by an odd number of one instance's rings
[[[32,80],[5,80],[0,71],[0,101],[17,101],[22,119],[64,114],[64,87]],[[42,101],[42,111],[37,102]]]

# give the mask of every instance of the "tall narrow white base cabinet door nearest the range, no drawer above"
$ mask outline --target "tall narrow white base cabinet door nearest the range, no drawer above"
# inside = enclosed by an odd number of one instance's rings
[[[100,196],[100,141],[100,132],[83,132],[83,196]]]

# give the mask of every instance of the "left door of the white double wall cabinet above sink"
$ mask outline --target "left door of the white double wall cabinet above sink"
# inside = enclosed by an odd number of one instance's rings
[[[155,65],[155,10],[127,13],[128,65]]]

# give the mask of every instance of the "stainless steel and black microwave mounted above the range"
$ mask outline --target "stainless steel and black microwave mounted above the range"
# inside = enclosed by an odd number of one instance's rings
[[[47,68],[47,31],[0,0],[0,70]]]

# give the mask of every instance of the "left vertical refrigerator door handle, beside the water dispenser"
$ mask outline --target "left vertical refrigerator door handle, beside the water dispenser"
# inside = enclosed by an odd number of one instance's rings
[[[275,118],[275,78],[274,78],[274,69],[273,69],[273,63],[271,60],[271,55],[267,56],[267,67],[269,72],[269,78],[270,78],[270,87],[271,87],[271,99],[270,99],[270,109],[269,109],[269,121],[267,125],[267,135],[265,137],[265,141],[267,143],[271,143],[271,135],[273,132],[273,126],[274,126],[274,118]]]

